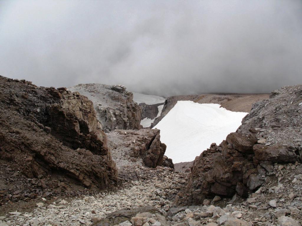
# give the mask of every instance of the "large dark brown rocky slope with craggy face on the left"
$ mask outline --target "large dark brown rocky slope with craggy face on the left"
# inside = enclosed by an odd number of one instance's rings
[[[18,170],[37,181],[34,187],[42,187],[41,194],[61,189],[56,175],[88,188],[104,189],[115,183],[117,169],[95,116],[92,102],[79,93],[0,77],[2,175],[10,177],[10,168]],[[31,185],[21,182],[8,186],[2,177],[2,196],[22,190],[18,198],[24,198],[23,192],[29,197]]]

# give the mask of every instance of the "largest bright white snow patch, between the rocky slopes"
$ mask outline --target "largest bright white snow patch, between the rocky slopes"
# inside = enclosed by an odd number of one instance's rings
[[[160,140],[167,145],[165,155],[173,163],[190,162],[211,143],[219,145],[235,132],[246,114],[220,108],[219,104],[178,101],[154,128],[160,129]]]

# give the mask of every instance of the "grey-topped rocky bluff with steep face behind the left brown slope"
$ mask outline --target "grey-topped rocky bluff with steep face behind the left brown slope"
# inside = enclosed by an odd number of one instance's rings
[[[133,93],[124,86],[79,84],[68,88],[93,102],[97,119],[105,132],[114,129],[140,129],[141,108],[133,102]]]

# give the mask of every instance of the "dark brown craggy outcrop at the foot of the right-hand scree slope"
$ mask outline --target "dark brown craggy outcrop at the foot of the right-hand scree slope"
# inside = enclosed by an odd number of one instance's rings
[[[251,178],[257,169],[250,152],[256,142],[253,134],[230,133],[220,146],[213,143],[202,152],[194,161],[188,183],[191,201],[202,203],[207,196],[233,196],[236,187],[247,190],[253,186]]]

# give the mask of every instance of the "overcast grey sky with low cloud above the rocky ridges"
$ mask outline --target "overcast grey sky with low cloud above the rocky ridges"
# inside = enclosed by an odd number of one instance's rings
[[[302,1],[0,1],[0,75],[147,94],[302,83]]]

